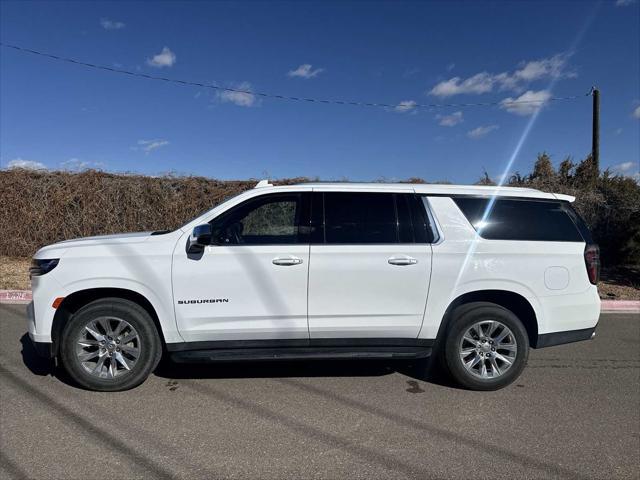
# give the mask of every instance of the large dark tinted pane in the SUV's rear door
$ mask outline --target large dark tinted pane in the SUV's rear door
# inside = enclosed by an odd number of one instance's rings
[[[397,243],[394,195],[325,193],[326,243]]]

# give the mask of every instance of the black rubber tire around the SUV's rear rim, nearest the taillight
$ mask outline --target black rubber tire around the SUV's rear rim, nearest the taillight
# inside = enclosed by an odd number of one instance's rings
[[[498,321],[511,330],[517,344],[517,352],[512,365],[504,373],[494,378],[481,378],[465,368],[460,357],[460,349],[464,334],[478,322],[488,320]],[[468,344],[465,343],[465,345]],[[506,387],[520,376],[529,357],[529,337],[522,322],[510,310],[488,302],[474,302],[457,308],[446,331],[442,347],[441,355],[447,373],[458,385],[469,390],[498,390]],[[475,354],[471,355],[473,358]],[[491,351],[488,355],[491,355]],[[485,360],[483,359],[482,362]],[[486,362],[489,363],[489,360]],[[490,363],[487,368],[492,369]]]

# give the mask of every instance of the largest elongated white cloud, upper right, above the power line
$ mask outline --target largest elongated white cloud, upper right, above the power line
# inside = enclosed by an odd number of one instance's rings
[[[442,81],[428,93],[436,97],[450,97],[461,94],[482,94],[491,92],[494,88],[520,92],[524,86],[536,80],[545,78],[574,78],[575,72],[567,71],[569,56],[557,54],[549,58],[542,58],[523,62],[514,72],[493,74],[480,72],[468,78],[453,77]]]

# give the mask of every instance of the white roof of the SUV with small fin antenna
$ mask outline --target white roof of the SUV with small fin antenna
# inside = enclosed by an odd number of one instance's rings
[[[266,181],[261,181],[256,187],[269,187]],[[405,190],[426,195],[479,195],[479,196],[501,196],[520,198],[541,198],[550,200],[564,200],[573,202],[575,197],[560,193],[547,193],[535,188],[522,187],[497,187],[486,185],[443,185],[429,183],[357,183],[357,182],[309,182],[278,187],[288,189],[295,187],[312,187],[318,190],[364,190],[364,191],[391,191]]]

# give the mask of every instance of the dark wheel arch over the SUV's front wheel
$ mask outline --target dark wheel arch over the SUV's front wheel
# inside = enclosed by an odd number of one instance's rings
[[[129,300],[139,306],[141,306],[153,320],[154,326],[160,335],[162,341],[162,348],[166,348],[166,341],[160,319],[156,309],[152,303],[141,293],[129,290],[126,288],[113,288],[113,287],[98,287],[87,288],[78,290],[70,295],[67,295],[62,303],[56,309],[56,313],[53,317],[53,323],[51,325],[51,342],[52,342],[52,354],[56,356],[58,354],[60,345],[60,335],[62,329],[69,321],[69,319],[83,306],[102,298],[120,298]]]

